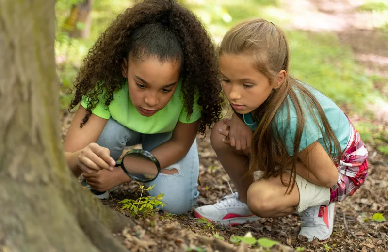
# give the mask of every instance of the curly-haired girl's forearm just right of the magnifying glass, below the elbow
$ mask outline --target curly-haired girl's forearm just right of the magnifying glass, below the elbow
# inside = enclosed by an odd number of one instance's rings
[[[167,142],[162,143],[151,151],[151,153],[158,159],[161,166],[161,170],[177,163],[183,157],[187,155],[194,142],[182,142],[174,139],[170,139]]]

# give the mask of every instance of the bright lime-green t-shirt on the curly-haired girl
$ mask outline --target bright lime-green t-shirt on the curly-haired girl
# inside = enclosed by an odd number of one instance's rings
[[[183,94],[180,90],[181,79],[178,81],[177,89],[175,90],[171,100],[167,105],[152,116],[143,116],[139,114],[133,106],[128,93],[128,82],[123,84],[123,88],[113,94],[113,100],[109,106],[105,106],[105,99],[102,95],[99,96],[99,103],[92,113],[98,117],[109,119],[113,118],[118,123],[127,128],[143,134],[156,134],[164,132],[172,132],[178,121],[182,123],[193,123],[201,118],[202,107],[197,104],[199,94],[194,97],[193,113],[187,121],[187,112],[184,107]],[[89,98],[84,96],[81,105],[86,108]]]

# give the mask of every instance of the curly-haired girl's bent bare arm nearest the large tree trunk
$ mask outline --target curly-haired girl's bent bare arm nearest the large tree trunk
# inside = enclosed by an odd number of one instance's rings
[[[101,135],[102,130],[104,129],[106,123],[108,120],[100,118],[96,115],[91,115],[89,117],[89,120],[86,124],[83,125],[83,127],[80,127],[80,124],[82,122],[83,117],[86,114],[85,108],[82,106],[79,106],[74,119],[68,129],[65,142],[64,142],[64,150],[65,150],[65,158],[67,161],[67,165],[70,167],[70,170],[76,175],[77,177],[81,175],[82,171],[80,169],[80,154],[82,155],[82,151],[90,146],[91,143],[95,143],[98,140],[98,137]],[[90,163],[88,160],[87,164],[85,164],[87,167],[93,165],[98,165],[102,168],[108,169],[109,164],[107,162],[114,161],[112,157],[109,156],[109,150],[107,151],[106,148],[99,147],[97,144],[96,146],[91,146],[91,148],[94,148],[93,151],[97,153],[97,156],[102,157],[106,162],[103,162],[103,160],[99,160],[97,157],[94,161],[94,164]],[[93,155],[91,153],[90,155]],[[93,159],[93,158],[92,158]],[[84,167],[85,168],[85,167]],[[85,168],[87,169],[87,168]],[[96,168],[98,169],[98,167]],[[92,173],[92,172],[91,172]]]

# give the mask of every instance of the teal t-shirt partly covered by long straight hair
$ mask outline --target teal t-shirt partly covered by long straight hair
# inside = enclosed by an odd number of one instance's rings
[[[339,144],[341,146],[341,151],[343,151],[348,142],[348,138],[351,130],[348,118],[346,117],[344,112],[341,109],[339,109],[339,107],[331,99],[326,97],[318,90],[310,86],[307,86],[307,87],[309,88],[310,92],[315,96],[315,98],[318,100],[318,102],[321,104],[322,109],[329,121],[329,124],[339,141]],[[281,106],[277,110],[275,114],[275,122],[279,129],[280,138],[282,142],[286,144],[288,155],[292,156],[294,153],[293,144],[295,140],[296,126],[297,126],[297,115],[296,115],[295,106],[292,103],[291,98],[288,97],[287,99],[289,101],[289,108],[290,108],[290,125],[289,125],[288,132],[284,132],[284,130],[286,130],[287,128],[287,116],[288,116],[288,110],[286,105]],[[299,99],[299,100],[302,101],[303,99]],[[313,121],[314,119],[312,118],[311,113],[309,113],[306,110],[304,111],[305,111],[305,126],[302,132],[299,151],[305,149],[307,146],[309,146],[315,141],[318,141],[324,147],[323,138],[319,127],[316,126],[316,124],[314,123]],[[316,112],[316,115],[317,115],[318,121],[320,122],[320,117],[317,112]],[[244,114],[243,119],[245,124],[248,125],[252,130],[256,130],[257,126],[259,125],[259,122],[255,122],[250,113]],[[325,133],[324,127],[323,127],[323,133]],[[332,145],[332,148],[334,149],[334,145]],[[336,156],[336,153],[334,152],[334,150],[331,153],[331,156],[332,157]]]

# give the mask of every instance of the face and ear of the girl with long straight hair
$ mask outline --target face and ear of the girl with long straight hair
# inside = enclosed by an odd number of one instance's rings
[[[220,56],[222,87],[231,106],[239,114],[247,114],[257,109],[269,97],[273,88],[269,79],[253,67],[249,55],[224,54]],[[285,77],[285,76],[284,76]]]

